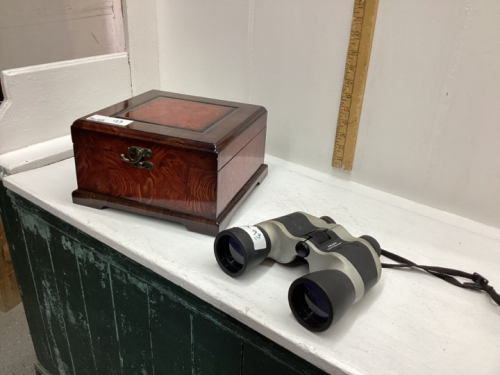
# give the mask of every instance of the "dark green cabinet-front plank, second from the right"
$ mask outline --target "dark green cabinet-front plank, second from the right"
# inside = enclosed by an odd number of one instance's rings
[[[193,375],[241,373],[242,341],[202,315],[192,317]]]

